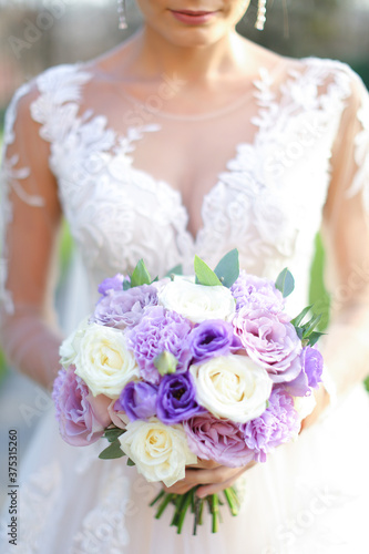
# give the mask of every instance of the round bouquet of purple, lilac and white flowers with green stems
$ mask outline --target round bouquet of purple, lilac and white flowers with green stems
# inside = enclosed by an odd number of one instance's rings
[[[285,312],[294,278],[276,283],[239,271],[238,253],[212,270],[195,257],[195,276],[174,268],[152,280],[140,260],[130,276],[104,279],[94,312],[61,346],[53,400],[62,438],[73,445],[109,441],[100,458],[127,456],[150,482],[171,486],[198,459],[233,468],[265,462],[297,437],[301,399],[312,399],[322,358],[320,316],[304,324]],[[238,511],[234,488],[206,499],[164,490],[156,517],[173,504],[181,533],[194,534],[207,505],[216,532],[219,505]]]

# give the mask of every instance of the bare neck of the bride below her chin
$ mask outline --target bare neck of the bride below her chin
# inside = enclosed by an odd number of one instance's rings
[[[245,43],[236,32],[230,32],[216,43],[180,47],[168,44],[163,37],[145,27],[131,42],[129,65],[136,75],[146,78],[176,74],[186,82],[213,80],[238,69],[245,71]]]

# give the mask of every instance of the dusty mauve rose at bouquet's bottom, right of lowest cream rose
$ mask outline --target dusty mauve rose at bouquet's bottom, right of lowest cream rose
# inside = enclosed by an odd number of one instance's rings
[[[229,468],[246,465],[254,459],[239,423],[202,413],[183,422],[188,447],[198,458],[214,460]]]

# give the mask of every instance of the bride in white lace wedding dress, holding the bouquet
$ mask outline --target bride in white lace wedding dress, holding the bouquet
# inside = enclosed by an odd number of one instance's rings
[[[266,463],[203,464],[173,485],[236,482],[243,504],[181,536],[147,506],[156,488],[95,445],[73,449],[51,410],[20,475],[17,546],[29,554],[311,554],[367,551],[369,103],[339,62],[279,57],[235,31],[247,0],[137,0],[143,28],[88,63],[52,68],[9,107],[2,164],[2,341],[47,388],[59,369],[52,267],[61,216],[81,264],[73,327],[98,284],[144,258],[152,275],[237,247],[249,273],[286,266],[307,304],[322,228],[334,315],[326,377],[299,439]],[[247,14],[246,14],[247,17]],[[123,13],[121,12],[121,18]],[[257,25],[263,27],[265,0]],[[75,314],[75,317],[72,317]],[[225,511],[224,511],[225,512]]]

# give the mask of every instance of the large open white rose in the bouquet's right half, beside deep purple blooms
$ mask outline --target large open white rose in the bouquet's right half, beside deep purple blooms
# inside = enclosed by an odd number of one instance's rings
[[[196,399],[216,418],[246,423],[267,408],[273,381],[264,368],[246,356],[219,356],[191,366]]]

